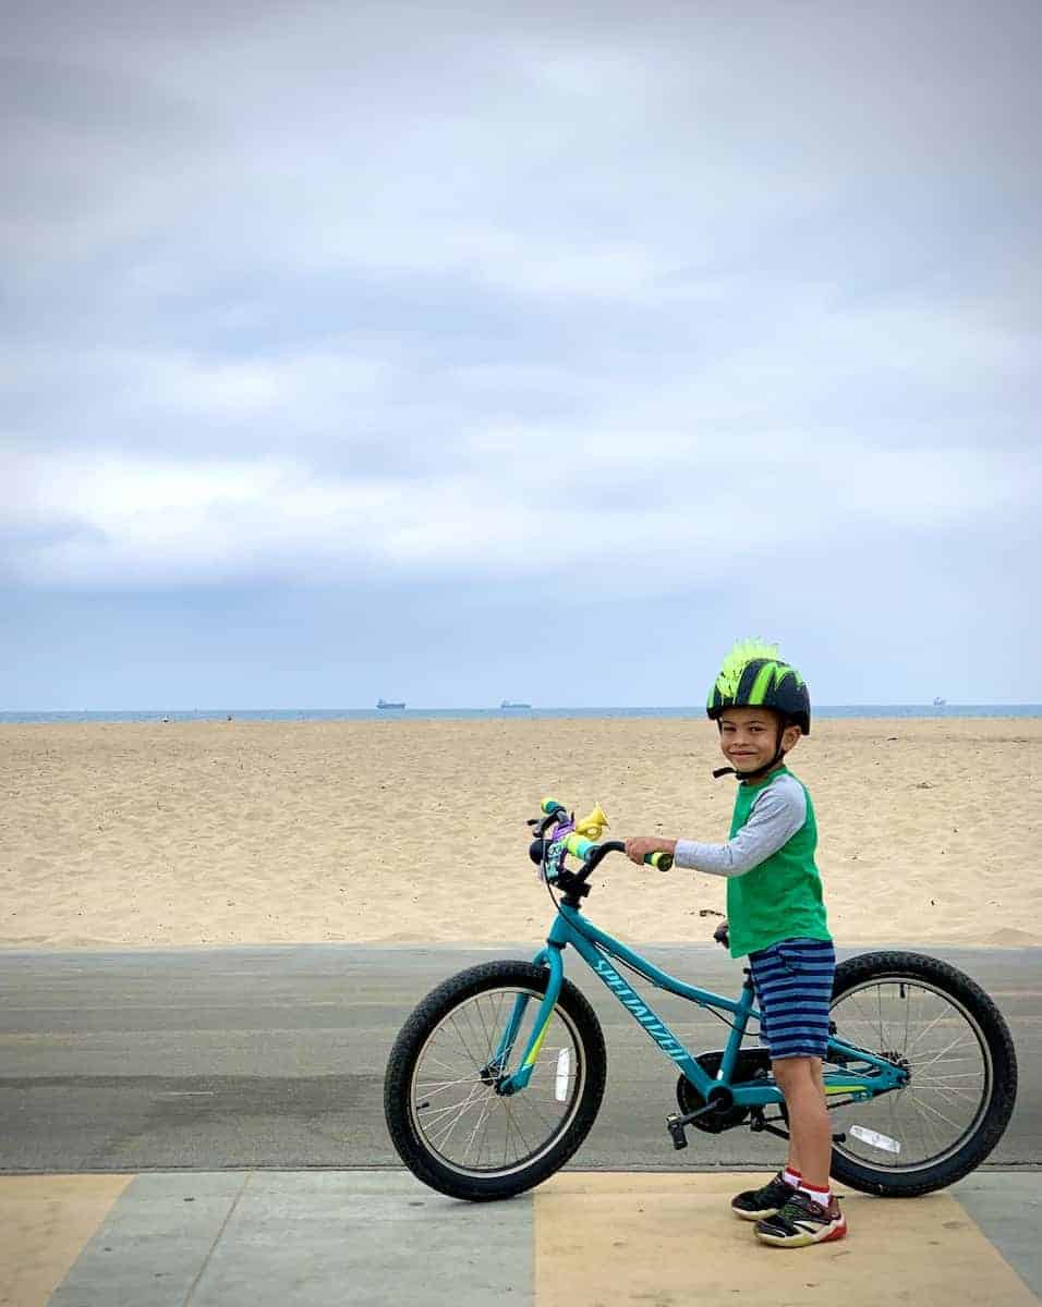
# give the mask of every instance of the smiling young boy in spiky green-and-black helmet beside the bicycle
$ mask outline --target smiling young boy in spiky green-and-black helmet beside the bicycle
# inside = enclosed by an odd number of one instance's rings
[[[675,867],[727,877],[731,955],[749,955],[761,1042],[790,1129],[784,1168],[761,1189],[739,1193],[731,1206],[756,1221],[765,1243],[801,1248],[847,1233],[829,1188],[832,1127],[821,1078],[835,951],[815,865],[815,810],[784,765],[800,736],[811,733],[811,698],[775,646],[744,640],[724,660],[707,712],[731,763],[723,771],[739,779],[728,842],[639,836],[626,840],[626,855],[641,864],[662,850],[673,855]]]

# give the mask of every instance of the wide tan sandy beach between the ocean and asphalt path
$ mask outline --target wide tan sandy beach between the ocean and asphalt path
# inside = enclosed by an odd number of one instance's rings
[[[1041,746],[1039,719],[816,723],[791,762],[837,942],[1042,945]],[[543,795],[723,839],[722,761],[702,720],[3,725],[0,946],[535,942]],[[723,901],[618,855],[587,910],[702,942]]]

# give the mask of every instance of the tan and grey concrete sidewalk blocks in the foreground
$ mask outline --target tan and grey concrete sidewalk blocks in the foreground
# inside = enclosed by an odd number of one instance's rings
[[[756,1183],[566,1171],[475,1205],[405,1171],[3,1176],[0,1307],[1042,1302],[1037,1171],[905,1202],[850,1193],[850,1236],[799,1251],[728,1212]]]

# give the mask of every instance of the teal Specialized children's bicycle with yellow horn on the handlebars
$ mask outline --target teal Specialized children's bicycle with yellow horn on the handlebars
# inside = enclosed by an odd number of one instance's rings
[[[384,1116],[405,1166],[442,1193],[486,1201],[540,1184],[582,1145],[604,1095],[607,1053],[592,1006],[565,976],[567,946],[677,1067],[679,1111],[665,1120],[675,1148],[686,1146],[688,1128],[787,1137],[769,1053],[743,1047],[758,1021],[748,968],[739,999],[726,999],[652,966],[583,916],[591,873],[625,851],[597,843],[600,808],[577,822],[544,799],[528,825],[529,856],[556,910],[546,945],[532,962],[460,971],[403,1026]],[[672,860],[647,861],[665,870]],[[726,927],[716,937],[727,942]],[[692,1053],[622,971],[714,1012],[730,1026],[726,1046]],[[999,1009],[967,975],[926,954],[876,951],[837,967],[824,1081],[833,1178],[913,1197],[961,1179],[995,1148],[1013,1111],[1017,1060]]]

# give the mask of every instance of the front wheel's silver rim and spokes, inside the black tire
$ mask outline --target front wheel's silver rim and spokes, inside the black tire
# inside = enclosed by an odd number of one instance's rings
[[[567,1131],[586,1084],[586,1056],[574,1019],[558,1004],[528,1086],[503,1097],[482,1078],[514,1010],[529,999],[505,1070],[516,1070],[528,1047],[543,995],[527,988],[485,989],[452,1008],[431,1030],[409,1084],[417,1137],[460,1175],[507,1176],[543,1158]]]

